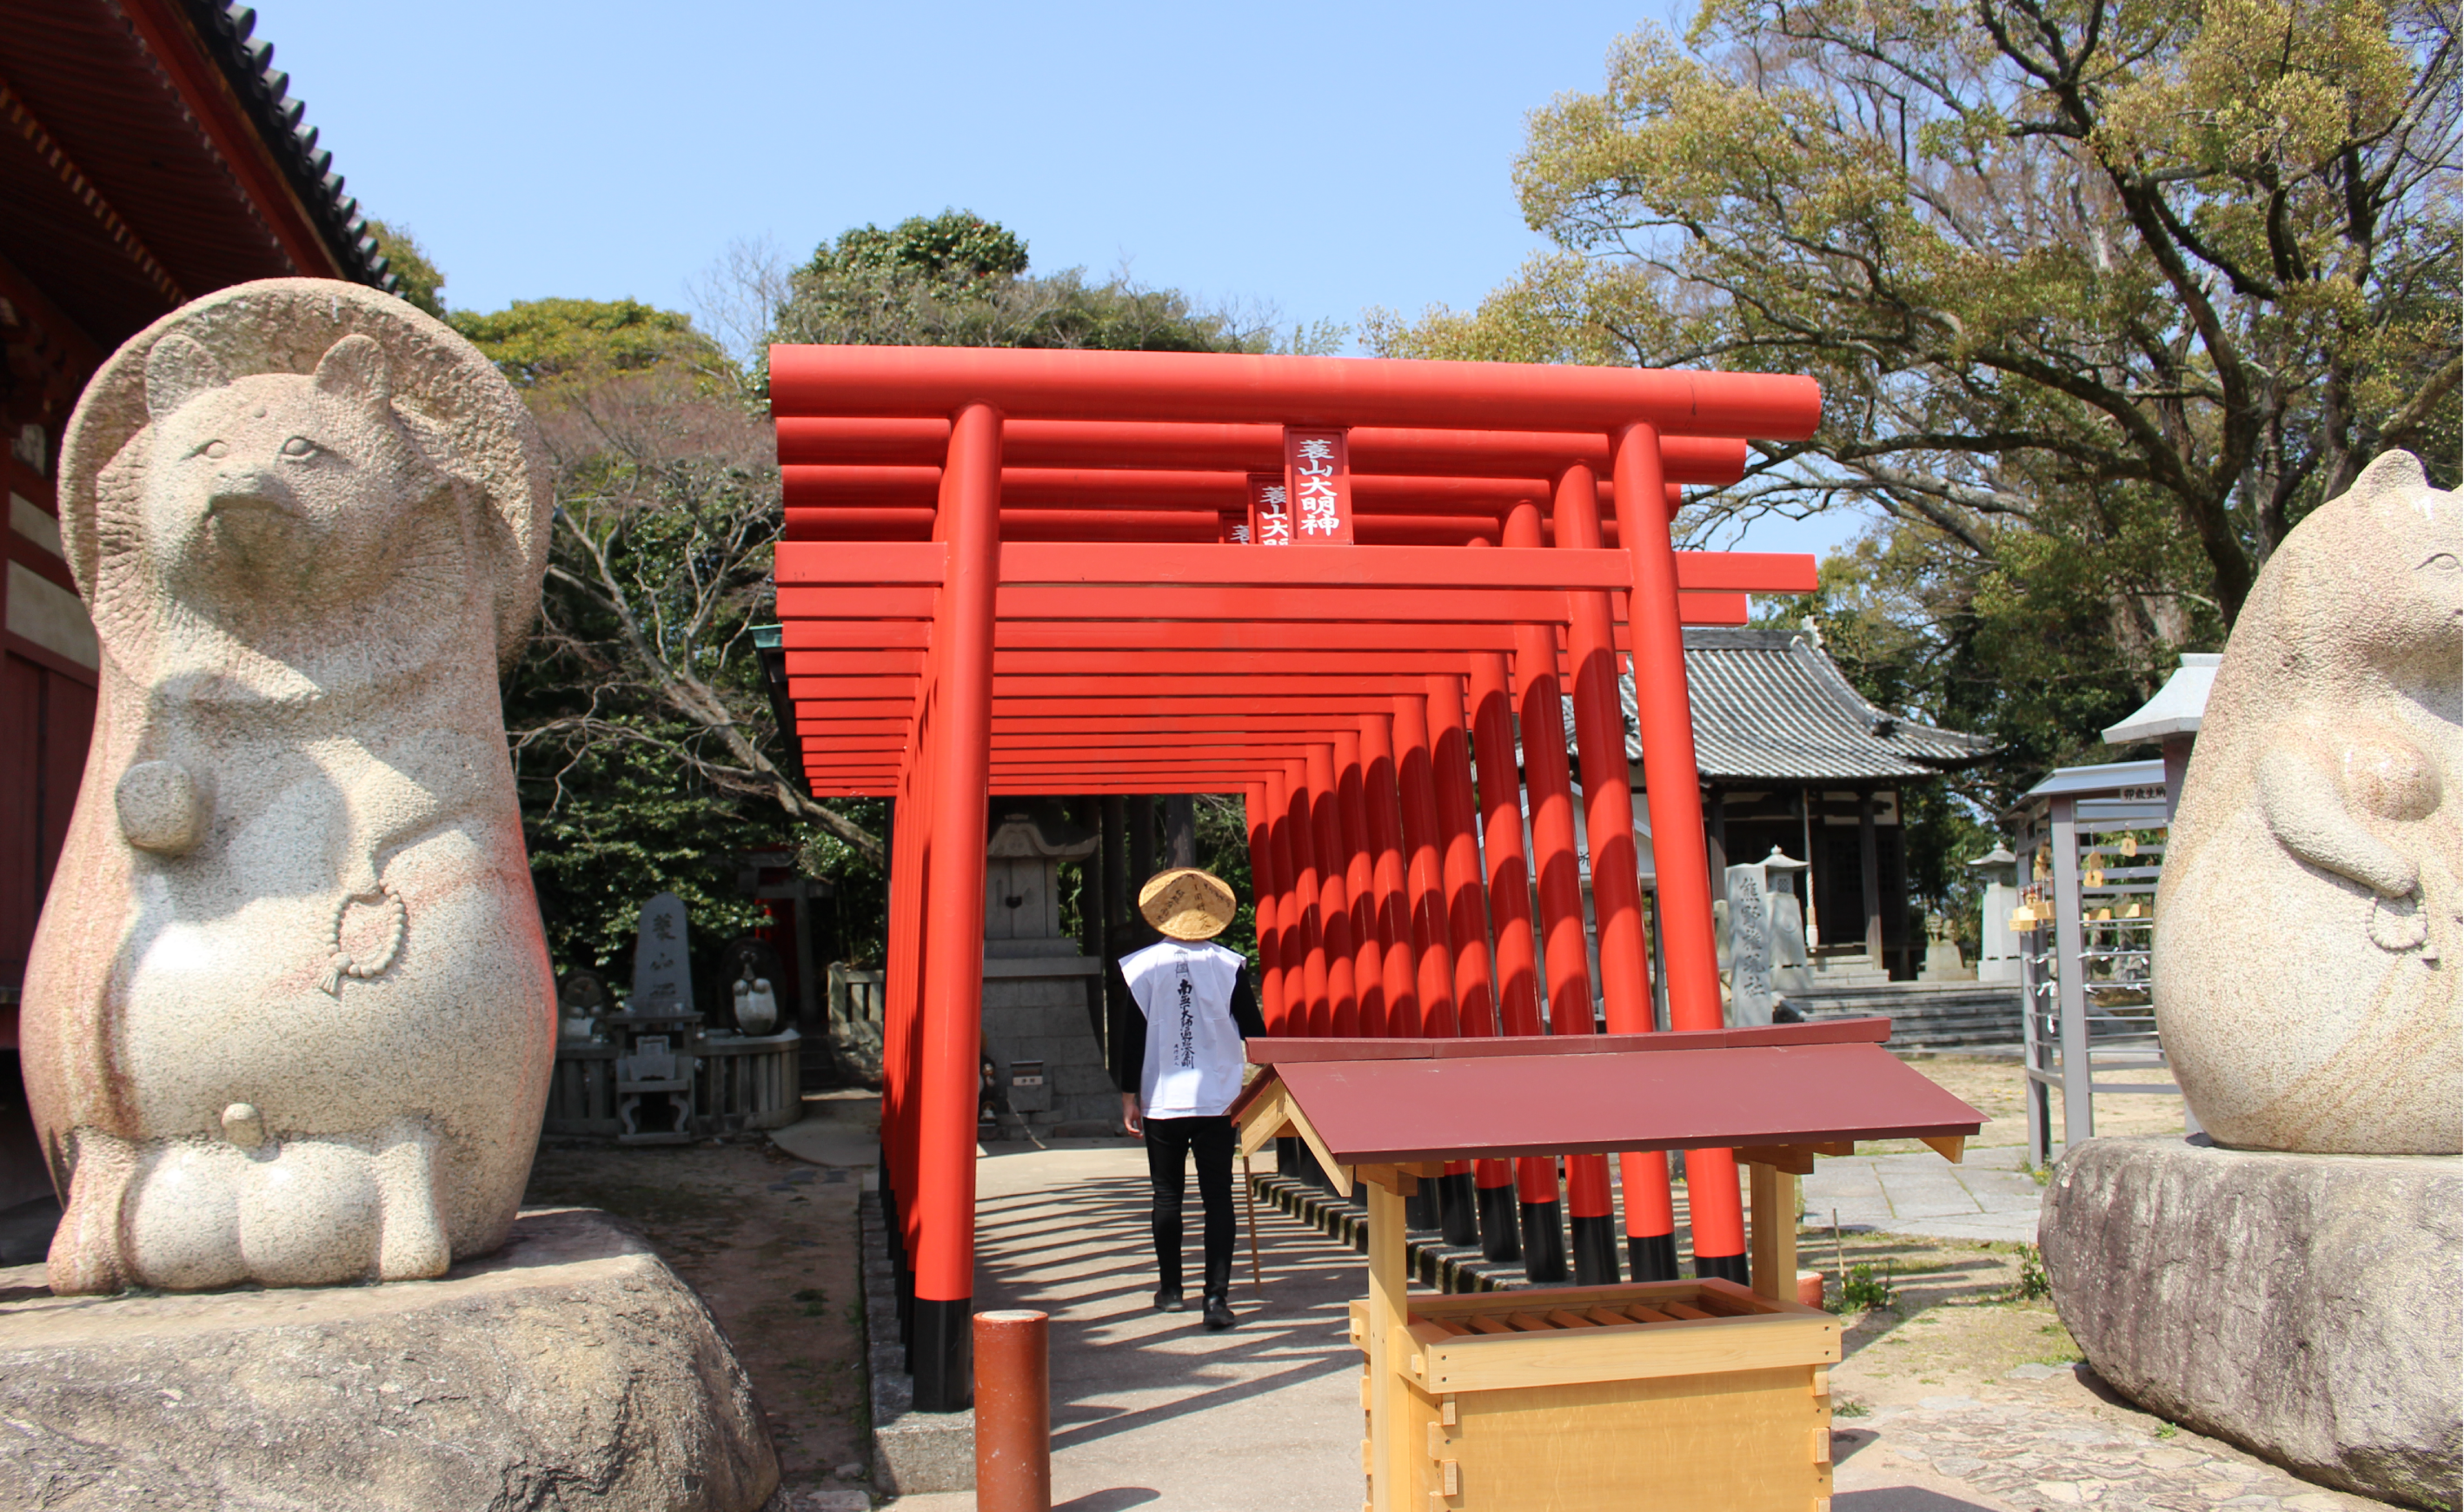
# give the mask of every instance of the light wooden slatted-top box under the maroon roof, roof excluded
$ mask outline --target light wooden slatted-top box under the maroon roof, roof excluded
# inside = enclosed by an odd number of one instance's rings
[[[1658,1281],[1412,1298],[1404,1332],[1412,1480],[1392,1505],[1806,1512],[1831,1495],[1841,1322],[1821,1308]],[[1365,1300],[1353,1342],[1368,1354]],[[1360,1391],[1375,1411],[1365,1359]]]

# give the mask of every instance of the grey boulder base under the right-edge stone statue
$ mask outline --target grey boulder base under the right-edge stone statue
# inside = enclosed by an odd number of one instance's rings
[[[2464,1167],[2087,1140],[2038,1229],[2117,1391],[2324,1485],[2459,1502]]]

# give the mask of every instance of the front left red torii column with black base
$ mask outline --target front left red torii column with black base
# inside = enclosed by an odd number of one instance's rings
[[[924,1056],[917,1150],[914,1384],[919,1411],[973,1399],[976,1093],[983,1054],[983,813],[1000,589],[1000,411],[951,419],[941,470],[949,576],[934,616],[931,872],[924,879]]]

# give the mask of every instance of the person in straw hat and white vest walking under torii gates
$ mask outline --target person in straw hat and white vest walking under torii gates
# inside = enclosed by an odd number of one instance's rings
[[[1198,867],[1156,872],[1138,889],[1138,914],[1163,938],[1111,965],[1124,1015],[1121,1123],[1146,1140],[1146,1177],[1156,1192],[1156,1310],[1183,1313],[1180,1199],[1198,1160],[1205,1209],[1205,1325],[1232,1327],[1232,1118],[1242,1088],[1242,1042],[1264,1034],[1249,963],[1212,943],[1239,909],[1232,889]]]

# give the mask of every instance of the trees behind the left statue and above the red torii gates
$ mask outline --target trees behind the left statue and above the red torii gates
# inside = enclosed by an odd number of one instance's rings
[[[774,340],[1266,345],[1178,293],[1030,278],[1025,241],[958,212],[857,227],[791,278],[747,254],[727,278],[719,293]],[[522,300],[451,323],[522,392],[554,468],[540,630],[508,675],[505,717],[559,965],[623,968],[641,899],[663,889],[705,951],[752,928],[729,857],[779,847],[835,887],[821,951],[880,960],[890,803],[796,788],[752,648],[776,618],[784,522],[759,382],[687,315],[641,300]]]

